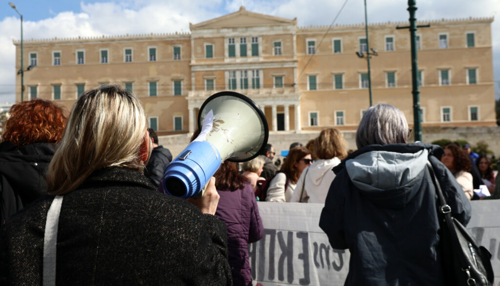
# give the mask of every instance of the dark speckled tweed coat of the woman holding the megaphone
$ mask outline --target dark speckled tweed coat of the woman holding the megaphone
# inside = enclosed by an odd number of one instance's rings
[[[0,285],[41,285],[43,236],[53,196],[7,220]],[[157,192],[136,170],[95,171],[64,195],[57,285],[230,285],[223,222]]]

